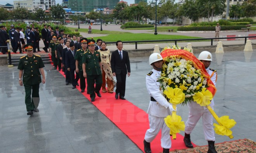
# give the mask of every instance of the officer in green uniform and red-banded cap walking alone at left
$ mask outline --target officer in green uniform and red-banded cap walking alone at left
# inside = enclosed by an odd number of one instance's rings
[[[45,83],[44,63],[39,55],[33,55],[33,44],[26,44],[24,48],[27,56],[21,57],[19,61],[19,84],[25,87],[27,115],[31,116],[33,111],[38,112],[39,84],[41,82]],[[43,80],[41,80],[41,75]],[[23,79],[21,79],[22,76]]]

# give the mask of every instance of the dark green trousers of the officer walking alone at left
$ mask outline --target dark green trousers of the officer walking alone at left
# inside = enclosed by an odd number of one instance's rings
[[[34,110],[39,104],[39,101],[40,101],[39,85],[40,85],[40,83],[33,84],[33,85],[24,85],[25,92],[26,92],[25,104],[27,107],[27,111]],[[31,92],[32,92],[32,98],[31,98]],[[36,105],[36,107],[35,107],[35,105]]]

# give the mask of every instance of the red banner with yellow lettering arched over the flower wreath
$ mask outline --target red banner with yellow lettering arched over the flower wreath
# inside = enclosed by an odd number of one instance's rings
[[[207,90],[209,90],[212,93],[212,96],[215,95],[216,88],[215,88],[215,85],[213,84],[213,82],[211,81],[210,75],[207,73],[207,71],[204,67],[204,64],[200,60],[198,60],[197,57],[194,56],[194,54],[192,54],[186,50],[182,50],[182,49],[165,49],[160,54],[164,60],[166,57],[174,56],[174,57],[181,57],[181,58],[184,58],[185,60],[192,61],[194,64],[194,67],[197,70],[200,70],[201,74],[205,78],[207,78],[207,85],[208,85]]]

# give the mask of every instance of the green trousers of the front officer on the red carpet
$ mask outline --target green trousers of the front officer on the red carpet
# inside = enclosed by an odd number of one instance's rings
[[[94,87],[94,83],[96,84]],[[95,98],[95,93],[99,93],[102,85],[102,75],[87,75],[87,90],[90,97]]]

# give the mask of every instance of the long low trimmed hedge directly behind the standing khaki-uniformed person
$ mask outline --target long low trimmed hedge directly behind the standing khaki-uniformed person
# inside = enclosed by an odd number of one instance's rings
[[[245,25],[220,26],[221,30],[241,30]],[[215,26],[183,26],[178,27],[177,31],[215,31]]]

